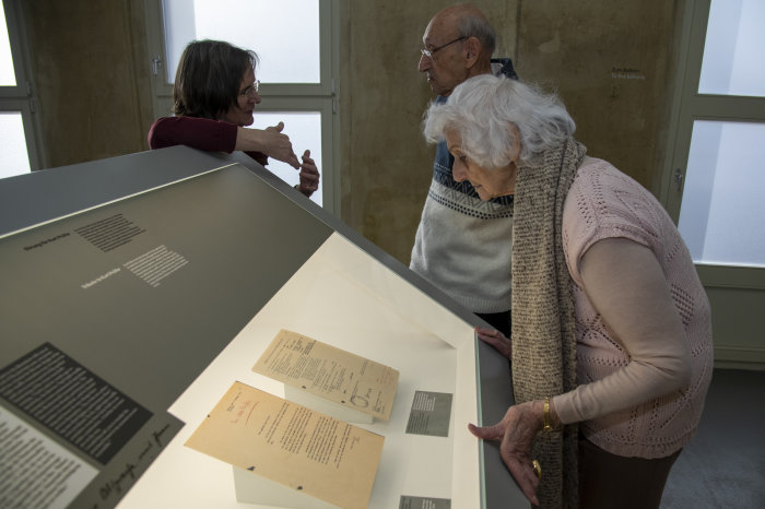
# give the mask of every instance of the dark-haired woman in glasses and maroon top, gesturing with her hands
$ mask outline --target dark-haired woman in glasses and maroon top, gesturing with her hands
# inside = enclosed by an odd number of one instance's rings
[[[305,151],[297,159],[282,133],[284,123],[267,129],[245,129],[260,103],[255,79],[258,56],[222,40],[195,40],[184,49],[173,87],[173,113],[154,121],[149,146],[187,145],[210,152],[244,151],[258,163],[283,161],[301,170],[296,188],[306,197],[319,186],[319,170]]]

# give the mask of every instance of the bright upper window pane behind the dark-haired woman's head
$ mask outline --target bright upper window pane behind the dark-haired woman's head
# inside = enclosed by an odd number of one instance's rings
[[[193,39],[220,39],[260,57],[263,83],[319,83],[318,0],[163,0],[168,82]]]

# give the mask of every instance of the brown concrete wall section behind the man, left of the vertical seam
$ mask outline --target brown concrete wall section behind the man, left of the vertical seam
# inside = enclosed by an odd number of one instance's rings
[[[433,176],[420,127],[434,98],[417,71],[433,14],[454,2],[348,2],[341,19],[342,218],[409,264]],[[497,31],[495,55],[515,60],[517,2],[474,2]]]

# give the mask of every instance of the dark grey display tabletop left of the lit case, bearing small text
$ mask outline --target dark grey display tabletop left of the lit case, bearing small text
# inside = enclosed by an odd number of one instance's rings
[[[76,232],[115,216],[121,246]],[[330,234],[234,166],[7,237],[3,358],[48,341],[164,411]],[[186,264],[152,286],[126,264],[162,246]]]

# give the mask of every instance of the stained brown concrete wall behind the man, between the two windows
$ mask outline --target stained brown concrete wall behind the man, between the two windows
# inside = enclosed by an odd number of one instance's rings
[[[450,1],[348,2],[342,34],[343,218],[404,263],[431,181],[420,134],[431,88],[422,34]],[[497,31],[495,56],[556,91],[590,155],[650,187],[661,166],[675,1],[475,1]],[[405,13],[405,14],[402,14]]]

